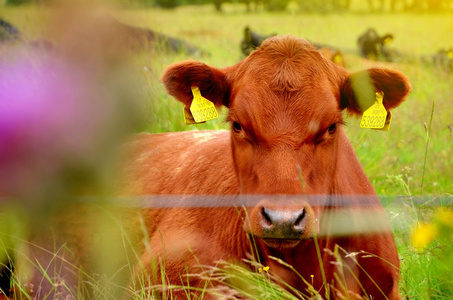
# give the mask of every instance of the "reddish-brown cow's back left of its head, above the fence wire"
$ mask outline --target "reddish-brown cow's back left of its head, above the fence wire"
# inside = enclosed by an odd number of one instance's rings
[[[126,148],[122,193],[238,193],[228,131],[140,134]]]

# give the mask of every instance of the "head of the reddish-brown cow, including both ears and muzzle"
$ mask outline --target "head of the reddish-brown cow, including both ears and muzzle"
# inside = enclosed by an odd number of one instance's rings
[[[229,108],[241,194],[294,195],[285,204],[263,197],[249,210],[247,229],[267,238],[312,235],[317,212],[308,205],[289,205],[300,198],[295,195],[373,192],[360,183],[349,190],[338,187],[339,177],[354,172],[340,163],[354,155],[345,152],[350,146],[342,110],[361,115],[377,90],[384,92],[390,110],[410,90],[399,72],[373,68],[351,74],[291,36],[270,38],[248,58],[223,69],[194,61],[174,64],[162,80],[186,107],[193,98],[191,87],[197,86],[216,106]]]

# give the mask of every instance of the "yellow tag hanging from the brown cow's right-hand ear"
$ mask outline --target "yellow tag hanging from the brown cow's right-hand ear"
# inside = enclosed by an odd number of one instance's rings
[[[389,130],[392,114],[385,109],[382,101],[384,100],[383,92],[376,92],[376,102],[363,112],[360,121],[361,128],[371,128],[379,130]]]

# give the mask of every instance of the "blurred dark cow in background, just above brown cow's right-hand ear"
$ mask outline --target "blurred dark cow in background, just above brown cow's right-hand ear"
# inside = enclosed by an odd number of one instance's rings
[[[387,45],[393,40],[392,34],[380,36],[374,28],[368,29],[357,39],[362,57],[372,60],[391,60],[391,51]]]

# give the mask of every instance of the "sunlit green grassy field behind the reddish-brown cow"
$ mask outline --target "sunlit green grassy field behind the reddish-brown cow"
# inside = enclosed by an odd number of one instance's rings
[[[48,38],[45,25],[51,14],[44,7],[0,7],[0,18],[15,24],[29,39]],[[410,78],[413,91],[393,111],[390,131],[360,129],[357,119],[345,116],[346,131],[387,207],[402,261],[402,295],[407,299],[453,297],[453,261],[448,253],[453,242],[451,222],[442,227],[446,240],[439,236],[421,251],[411,246],[411,231],[418,223],[443,222],[437,209],[439,199],[452,200],[453,73],[426,63],[438,50],[453,47],[451,14],[248,14],[239,6],[227,6],[222,14],[211,6],[171,11],[114,9],[112,14],[124,23],[184,38],[207,53],[190,57],[149,51],[132,56],[131,76],[142,83],[144,130],[149,132],[227,128],[222,118],[184,125],[181,105],[165,93],[159,76],[166,66],[183,59],[217,67],[237,63],[243,58],[240,41],[247,25],[263,34],[293,34],[337,47],[353,70],[365,67],[353,57],[362,32],[369,27],[382,34],[392,32],[391,47],[409,59],[390,67]]]

